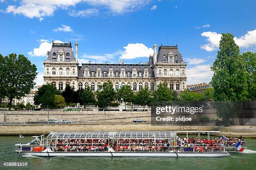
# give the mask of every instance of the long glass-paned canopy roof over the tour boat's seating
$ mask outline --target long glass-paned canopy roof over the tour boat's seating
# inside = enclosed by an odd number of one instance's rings
[[[50,139],[80,139],[80,138],[175,138],[176,132],[172,131],[79,131],[79,132],[51,132],[47,138]]]

